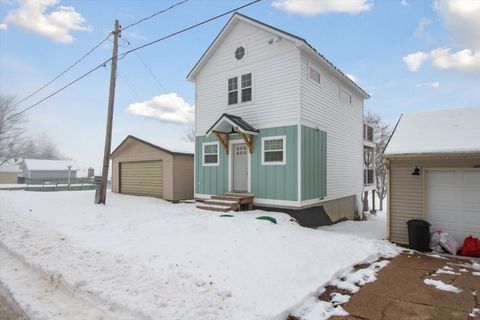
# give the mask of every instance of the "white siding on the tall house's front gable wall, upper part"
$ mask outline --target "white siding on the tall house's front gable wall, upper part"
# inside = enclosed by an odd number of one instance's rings
[[[239,22],[226,36],[196,78],[196,135],[204,135],[223,114],[232,113],[257,128],[298,123],[299,51],[283,39],[269,44],[275,36]],[[242,45],[245,56],[235,59]],[[228,79],[252,74],[252,101],[228,105]],[[239,97],[239,101],[240,101]]]

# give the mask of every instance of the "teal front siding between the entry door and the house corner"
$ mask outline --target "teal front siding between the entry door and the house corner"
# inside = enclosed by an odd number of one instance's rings
[[[260,129],[255,137],[251,157],[251,187],[257,198],[291,200],[298,199],[298,135],[297,126]],[[262,138],[286,137],[286,163],[284,165],[262,165]]]

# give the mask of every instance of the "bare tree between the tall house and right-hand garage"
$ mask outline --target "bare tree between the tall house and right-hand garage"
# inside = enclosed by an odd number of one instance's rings
[[[383,161],[383,150],[390,138],[390,125],[383,121],[379,114],[374,112],[367,112],[365,121],[368,125],[373,127],[375,139],[375,192],[380,199],[380,211],[383,211],[383,200],[387,196],[387,167]]]

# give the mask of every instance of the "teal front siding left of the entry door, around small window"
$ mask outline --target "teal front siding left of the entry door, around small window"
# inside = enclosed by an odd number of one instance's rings
[[[225,194],[228,191],[228,156],[221,143],[219,165],[202,166],[202,143],[218,141],[215,137],[195,137],[195,193]]]

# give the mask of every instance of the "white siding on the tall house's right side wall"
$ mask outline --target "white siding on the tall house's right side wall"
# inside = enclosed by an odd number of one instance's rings
[[[322,85],[308,78],[309,66],[322,75]],[[301,53],[301,122],[328,132],[327,190],[338,199],[363,190],[363,100],[352,95],[352,107],[339,99],[340,79]]]

